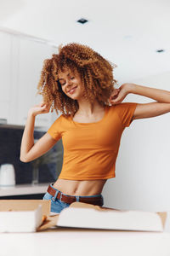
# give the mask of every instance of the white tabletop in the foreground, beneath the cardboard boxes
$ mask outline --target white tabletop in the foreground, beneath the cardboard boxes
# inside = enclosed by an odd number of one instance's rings
[[[55,228],[1,233],[1,256],[169,256],[170,233]]]

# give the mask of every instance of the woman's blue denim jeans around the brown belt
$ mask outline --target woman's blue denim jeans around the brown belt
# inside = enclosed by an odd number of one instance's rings
[[[51,186],[53,189],[55,189],[52,184],[50,184],[50,186]],[[54,196],[53,196],[53,195],[50,195],[50,194],[47,192],[47,193],[43,196],[43,200],[50,200],[50,201],[51,201],[51,212],[59,213],[59,212],[61,212],[64,208],[69,207],[70,204],[67,204],[67,203],[65,203],[65,202],[60,201],[59,199],[57,199],[56,197],[57,197],[57,195],[58,195],[58,193],[59,193],[60,191],[59,191],[58,189],[55,189],[55,190],[56,190],[56,193],[55,193]],[[60,192],[60,193],[61,193],[61,195],[62,195],[62,194],[63,194],[63,195],[66,195],[66,194],[64,194],[64,193],[62,193],[62,192]],[[88,196],[83,196],[83,197],[98,197],[98,196],[102,196],[102,195],[88,195]],[[79,198],[80,198],[81,196],[77,195],[76,197],[77,197],[77,201],[79,201]],[[102,199],[103,199],[103,196],[102,196]]]

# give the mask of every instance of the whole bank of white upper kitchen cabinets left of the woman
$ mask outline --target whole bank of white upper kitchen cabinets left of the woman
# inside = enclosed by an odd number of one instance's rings
[[[36,96],[43,61],[57,48],[35,38],[0,32],[0,119],[11,125],[25,125],[29,108],[42,102]],[[55,113],[38,115],[36,125],[48,127]]]

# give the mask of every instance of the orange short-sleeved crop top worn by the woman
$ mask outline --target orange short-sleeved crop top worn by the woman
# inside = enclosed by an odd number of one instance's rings
[[[59,178],[93,180],[115,177],[122,131],[132,122],[137,103],[106,106],[103,119],[78,123],[71,116],[59,116],[48,129],[56,141],[62,138],[64,159]]]

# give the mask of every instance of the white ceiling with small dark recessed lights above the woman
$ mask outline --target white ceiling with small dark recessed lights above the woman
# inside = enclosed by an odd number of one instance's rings
[[[121,83],[170,72],[169,0],[0,0],[0,26],[87,44],[116,63]]]

